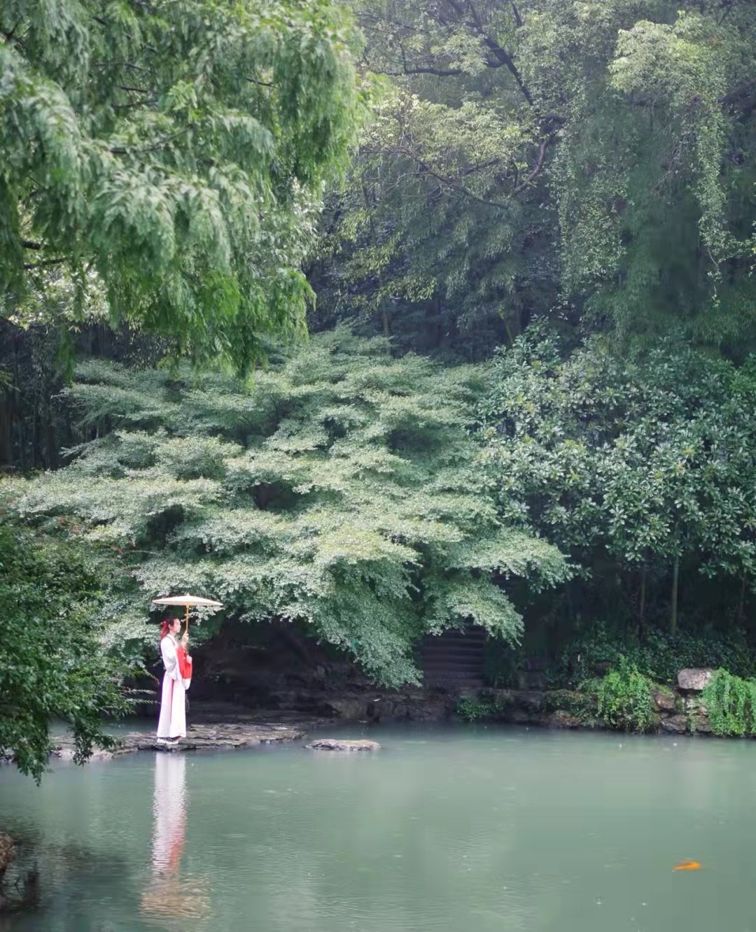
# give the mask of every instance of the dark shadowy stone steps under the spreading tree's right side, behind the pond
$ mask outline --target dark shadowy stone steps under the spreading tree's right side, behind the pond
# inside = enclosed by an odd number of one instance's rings
[[[441,635],[423,637],[419,645],[423,685],[450,691],[480,689],[486,637],[483,628],[473,625],[463,631],[448,630]]]

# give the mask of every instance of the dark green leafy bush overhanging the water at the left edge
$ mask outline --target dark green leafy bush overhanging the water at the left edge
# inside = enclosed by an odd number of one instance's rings
[[[105,595],[109,579],[105,561],[72,541],[65,521],[37,536],[3,514],[0,752],[37,781],[54,745],[53,720],[71,729],[82,763],[94,745],[112,744],[103,717],[129,707],[121,680],[144,632]]]

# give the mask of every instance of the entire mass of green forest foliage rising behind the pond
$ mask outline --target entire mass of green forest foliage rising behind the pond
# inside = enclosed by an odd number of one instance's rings
[[[0,60],[4,540],[103,665],[188,587],[389,683],[471,621],[748,672],[756,4],[9,0]]]

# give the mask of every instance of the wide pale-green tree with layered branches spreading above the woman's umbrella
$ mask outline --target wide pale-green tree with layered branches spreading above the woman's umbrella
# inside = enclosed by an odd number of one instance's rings
[[[557,583],[565,561],[483,487],[467,430],[482,371],[387,349],[339,328],[251,387],[83,363],[70,397],[105,436],[13,494],[121,549],[143,604],[199,590],[243,620],[296,620],[384,682],[417,678],[425,632],[472,620],[514,641],[507,580]]]

